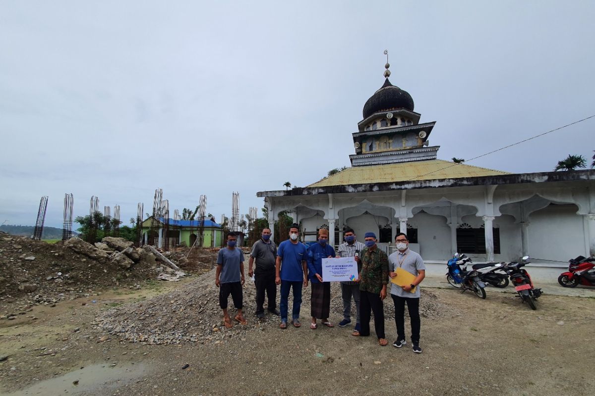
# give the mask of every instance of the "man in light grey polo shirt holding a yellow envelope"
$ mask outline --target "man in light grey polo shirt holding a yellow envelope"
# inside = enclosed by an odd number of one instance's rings
[[[410,274],[415,275],[415,279],[411,284],[405,286],[397,286],[392,284],[390,289],[390,296],[393,297],[394,302],[394,322],[397,325],[397,340],[394,341],[393,346],[400,348],[406,345],[405,341],[405,303],[409,311],[409,318],[411,318],[411,342],[413,343],[413,351],[421,353],[419,347],[419,330],[421,328],[421,320],[419,319],[419,283],[425,277],[425,265],[421,256],[416,252],[409,250],[409,240],[407,235],[399,233],[394,242],[397,246],[397,251],[389,256],[389,276],[394,278],[397,268],[402,268]],[[415,292],[411,293],[414,289]]]

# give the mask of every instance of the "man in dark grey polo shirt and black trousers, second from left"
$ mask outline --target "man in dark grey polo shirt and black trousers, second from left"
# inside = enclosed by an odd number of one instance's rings
[[[252,265],[256,259],[256,270]],[[252,245],[250,261],[248,262],[248,276],[254,275],[256,286],[256,316],[264,319],[264,294],[267,292],[268,311],[279,316],[277,311],[277,284],[275,284],[275,260],[277,259],[277,245],[271,240],[271,229],[262,230],[261,239]]]

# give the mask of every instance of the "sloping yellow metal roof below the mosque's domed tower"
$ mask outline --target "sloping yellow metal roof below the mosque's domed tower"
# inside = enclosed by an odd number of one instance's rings
[[[327,187],[362,183],[414,182],[417,180],[473,178],[508,175],[509,172],[444,160],[400,162],[352,166],[308,187]]]

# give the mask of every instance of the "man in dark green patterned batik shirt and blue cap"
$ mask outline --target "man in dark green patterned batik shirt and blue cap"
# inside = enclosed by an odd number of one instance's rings
[[[384,336],[383,300],[386,298],[386,285],[389,283],[389,257],[378,249],[373,232],[367,232],[364,240],[366,248],[359,253],[362,262],[362,272],[359,274],[361,330],[353,331],[353,335],[370,335],[370,314],[373,311],[378,344],[386,346],[389,342]]]

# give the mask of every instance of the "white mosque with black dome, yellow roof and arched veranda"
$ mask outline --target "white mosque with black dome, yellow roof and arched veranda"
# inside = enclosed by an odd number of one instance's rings
[[[373,231],[389,253],[404,232],[414,251],[436,262],[455,252],[474,262],[529,255],[544,265],[595,255],[595,170],[508,173],[440,160],[429,141],[436,122],[419,122],[389,67],[352,133],[352,166],[304,188],[258,192],[269,224],[284,211],[305,240],[321,227],[334,230],[333,246],[346,227],[360,239]]]

